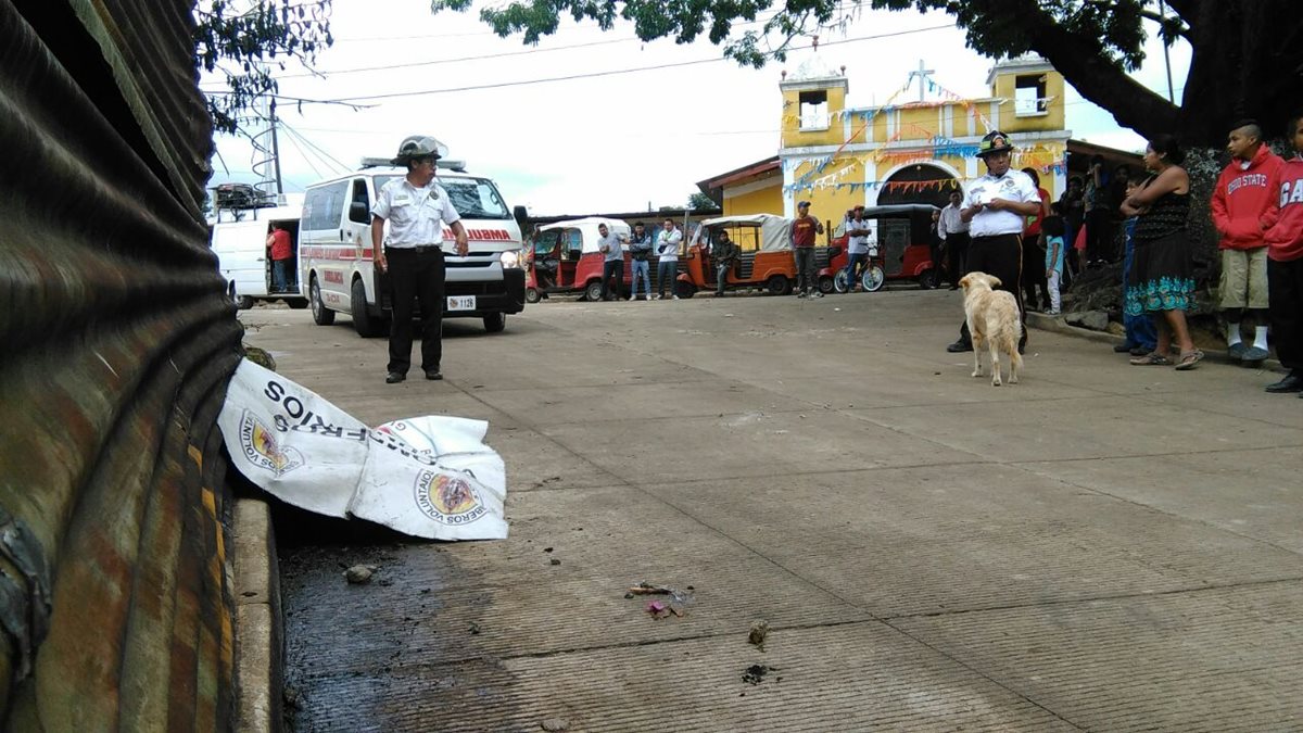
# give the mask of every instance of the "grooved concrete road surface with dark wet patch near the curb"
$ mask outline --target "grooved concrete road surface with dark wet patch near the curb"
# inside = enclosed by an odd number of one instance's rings
[[[347,318],[244,312],[356,417],[486,419],[508,467],[506,541],[278,510],[294,726],[1303,729],[1303,400],[1038,330],[995,389],[945,352],[960,317],[947,291],[550,301],[448,321],[446,381],[390,386]]]

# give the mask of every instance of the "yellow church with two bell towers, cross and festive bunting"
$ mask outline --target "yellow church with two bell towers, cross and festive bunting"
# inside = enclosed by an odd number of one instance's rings
[[[779,83],[778,154],[698,188],[724,215],[795,217],[796,203],[810,201],[816,217],[837,222],[855,205],[943,206],[951,190],[985,173],[976,153],[992,129],[1009,134],[1016,146],[1014,167],[1036,170],[1055,200],[1067,187],[1070,143],[1074,153],[1138,160],[1070,140],[1063,77],[1037,56],[997,63],[986,78],[989,95],[976,99],[941,86],[923,63],[902,82],[882,104],[847,107],[844,67],[831,69],[816,50]]]

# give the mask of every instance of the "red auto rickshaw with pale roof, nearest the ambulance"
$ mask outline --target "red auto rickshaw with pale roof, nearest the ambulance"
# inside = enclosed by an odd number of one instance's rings
[[[629,236],[629,226],[619,219],[588,217],[538,227],[533,245],[526,250],[525,301],[538,303],[549,293],[577,292],[588,300],[602,297],[602,261],[597,250],[601,235],[597,227],[606,224],[616,236]],[[628,260],[628,253],[625,253]],[[629,282],[629,267],[624,267],[624,282]]]

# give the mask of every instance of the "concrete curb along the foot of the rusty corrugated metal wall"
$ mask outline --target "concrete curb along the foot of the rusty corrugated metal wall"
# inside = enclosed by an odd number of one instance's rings
[[[271,509],[250,498],[235,506],[237,730],[283,728],[284,634]]]

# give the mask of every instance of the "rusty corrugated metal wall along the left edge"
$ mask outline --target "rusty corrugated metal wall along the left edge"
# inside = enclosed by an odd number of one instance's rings
[[[186,0],[0,0],[0,711],[228,729],[215,415],[238,360],[201,213]]]

